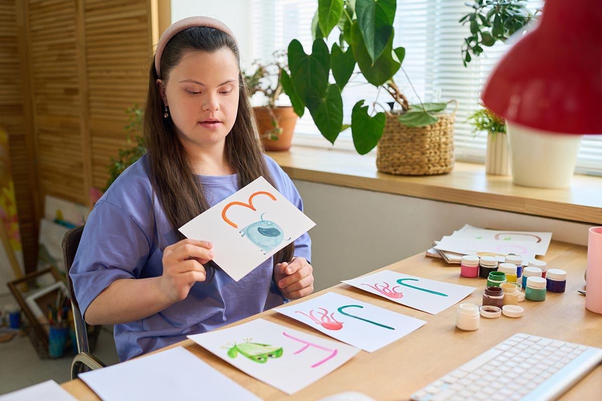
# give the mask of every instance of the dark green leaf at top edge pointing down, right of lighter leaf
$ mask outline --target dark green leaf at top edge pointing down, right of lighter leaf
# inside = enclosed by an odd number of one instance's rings
[[[396,7],[396,0],[356,1],[355,12],[359,30],[372,63],[375,63],[385,51],[391,32],[393,32]]]

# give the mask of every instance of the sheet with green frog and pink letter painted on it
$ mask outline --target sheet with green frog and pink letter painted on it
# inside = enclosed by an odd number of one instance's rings
[[[358,348],[255,319],[188,338],[247,375],[293,394],[337,369]]]

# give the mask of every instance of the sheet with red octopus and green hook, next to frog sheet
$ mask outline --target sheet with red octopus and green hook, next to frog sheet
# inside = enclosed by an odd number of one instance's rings
[[[335,292],[275,311],[368,352],[393,343],[426,323]]]

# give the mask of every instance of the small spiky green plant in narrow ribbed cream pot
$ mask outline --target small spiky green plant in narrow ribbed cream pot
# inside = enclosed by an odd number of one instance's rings
[[[501,176],[510,174],[510,152],[503,118],[481,104],[480,108],[468,117],[468,121],[473,124],[475,134],[483,131],[487,133],[485,172]]]

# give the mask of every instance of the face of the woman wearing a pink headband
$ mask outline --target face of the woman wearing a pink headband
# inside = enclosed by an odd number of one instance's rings
[[[238,61],[224,47],[213,53],[188,51],[157,80],[178,138],[191,155],[223,147],[238,111]]]

